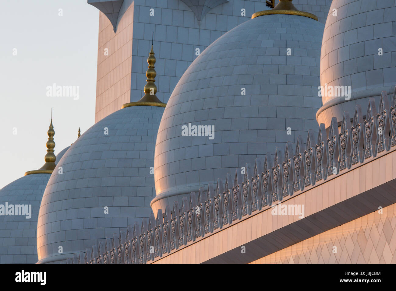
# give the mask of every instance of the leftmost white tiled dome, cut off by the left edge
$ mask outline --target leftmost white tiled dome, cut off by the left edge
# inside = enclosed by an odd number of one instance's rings
[[[36,230],[41,198],[51,174],[30,174],[0,189],[0,204],[31,205],[31,217],[0,215],[0,264],[37,262]]]

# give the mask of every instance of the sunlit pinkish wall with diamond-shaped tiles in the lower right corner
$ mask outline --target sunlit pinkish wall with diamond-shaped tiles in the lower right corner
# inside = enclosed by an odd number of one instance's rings
[[[395,264],[395,230],[393,204],[383,213],[370,213],[251,263]]]

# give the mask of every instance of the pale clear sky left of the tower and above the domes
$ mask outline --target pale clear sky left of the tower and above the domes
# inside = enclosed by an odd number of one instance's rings
[[[98,30],[86,0],[1,2],[0,188],[44,164],[51,107],[55,154],[94,124]],[[79,86],[80,99],[47,97],[53,83]]]

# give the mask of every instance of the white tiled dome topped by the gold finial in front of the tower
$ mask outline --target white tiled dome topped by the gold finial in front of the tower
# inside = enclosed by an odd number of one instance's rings
[[[51,175],[40,206],[40,263],[59,262],[92,248],[119,228],[150,215],[155,196],[150,167],[163,112],[163,107],[155,106],[120,109],[70,146]],[[58,253],[59,246],[63,254]]]

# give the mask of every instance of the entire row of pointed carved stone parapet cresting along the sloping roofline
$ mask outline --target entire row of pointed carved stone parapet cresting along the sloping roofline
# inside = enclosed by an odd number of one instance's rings
[[[253,169],[246,164],[246,173],[236,170],[234,179],[227,174],[225,183],[209,183],[190,199],[183,198],[143,219],[141,226],[128,226],[113,238],[99,241],[84,253],[67,259],[71,264],[136,264],[154,262],[215,232],[238,223],[251,215],[271,208],[314,186],[342,175],[396,150],[396,86],[392,107],[386,91],[381,92],[378,111],[374,99],[367,105],[366,120],[356,105],[352,123],[344,112],[340,133],[337,118],[331,119],[329,134],[320,124],[318,137],[309,130],[307,143],[298,136],[296,149],[286,143],[285,155],[276,149],[274,158],[267,153],[264,164],[256,159]],[[316,141],[316,145],[314,145]],[[294,153],[294,154],[293,154]]]

